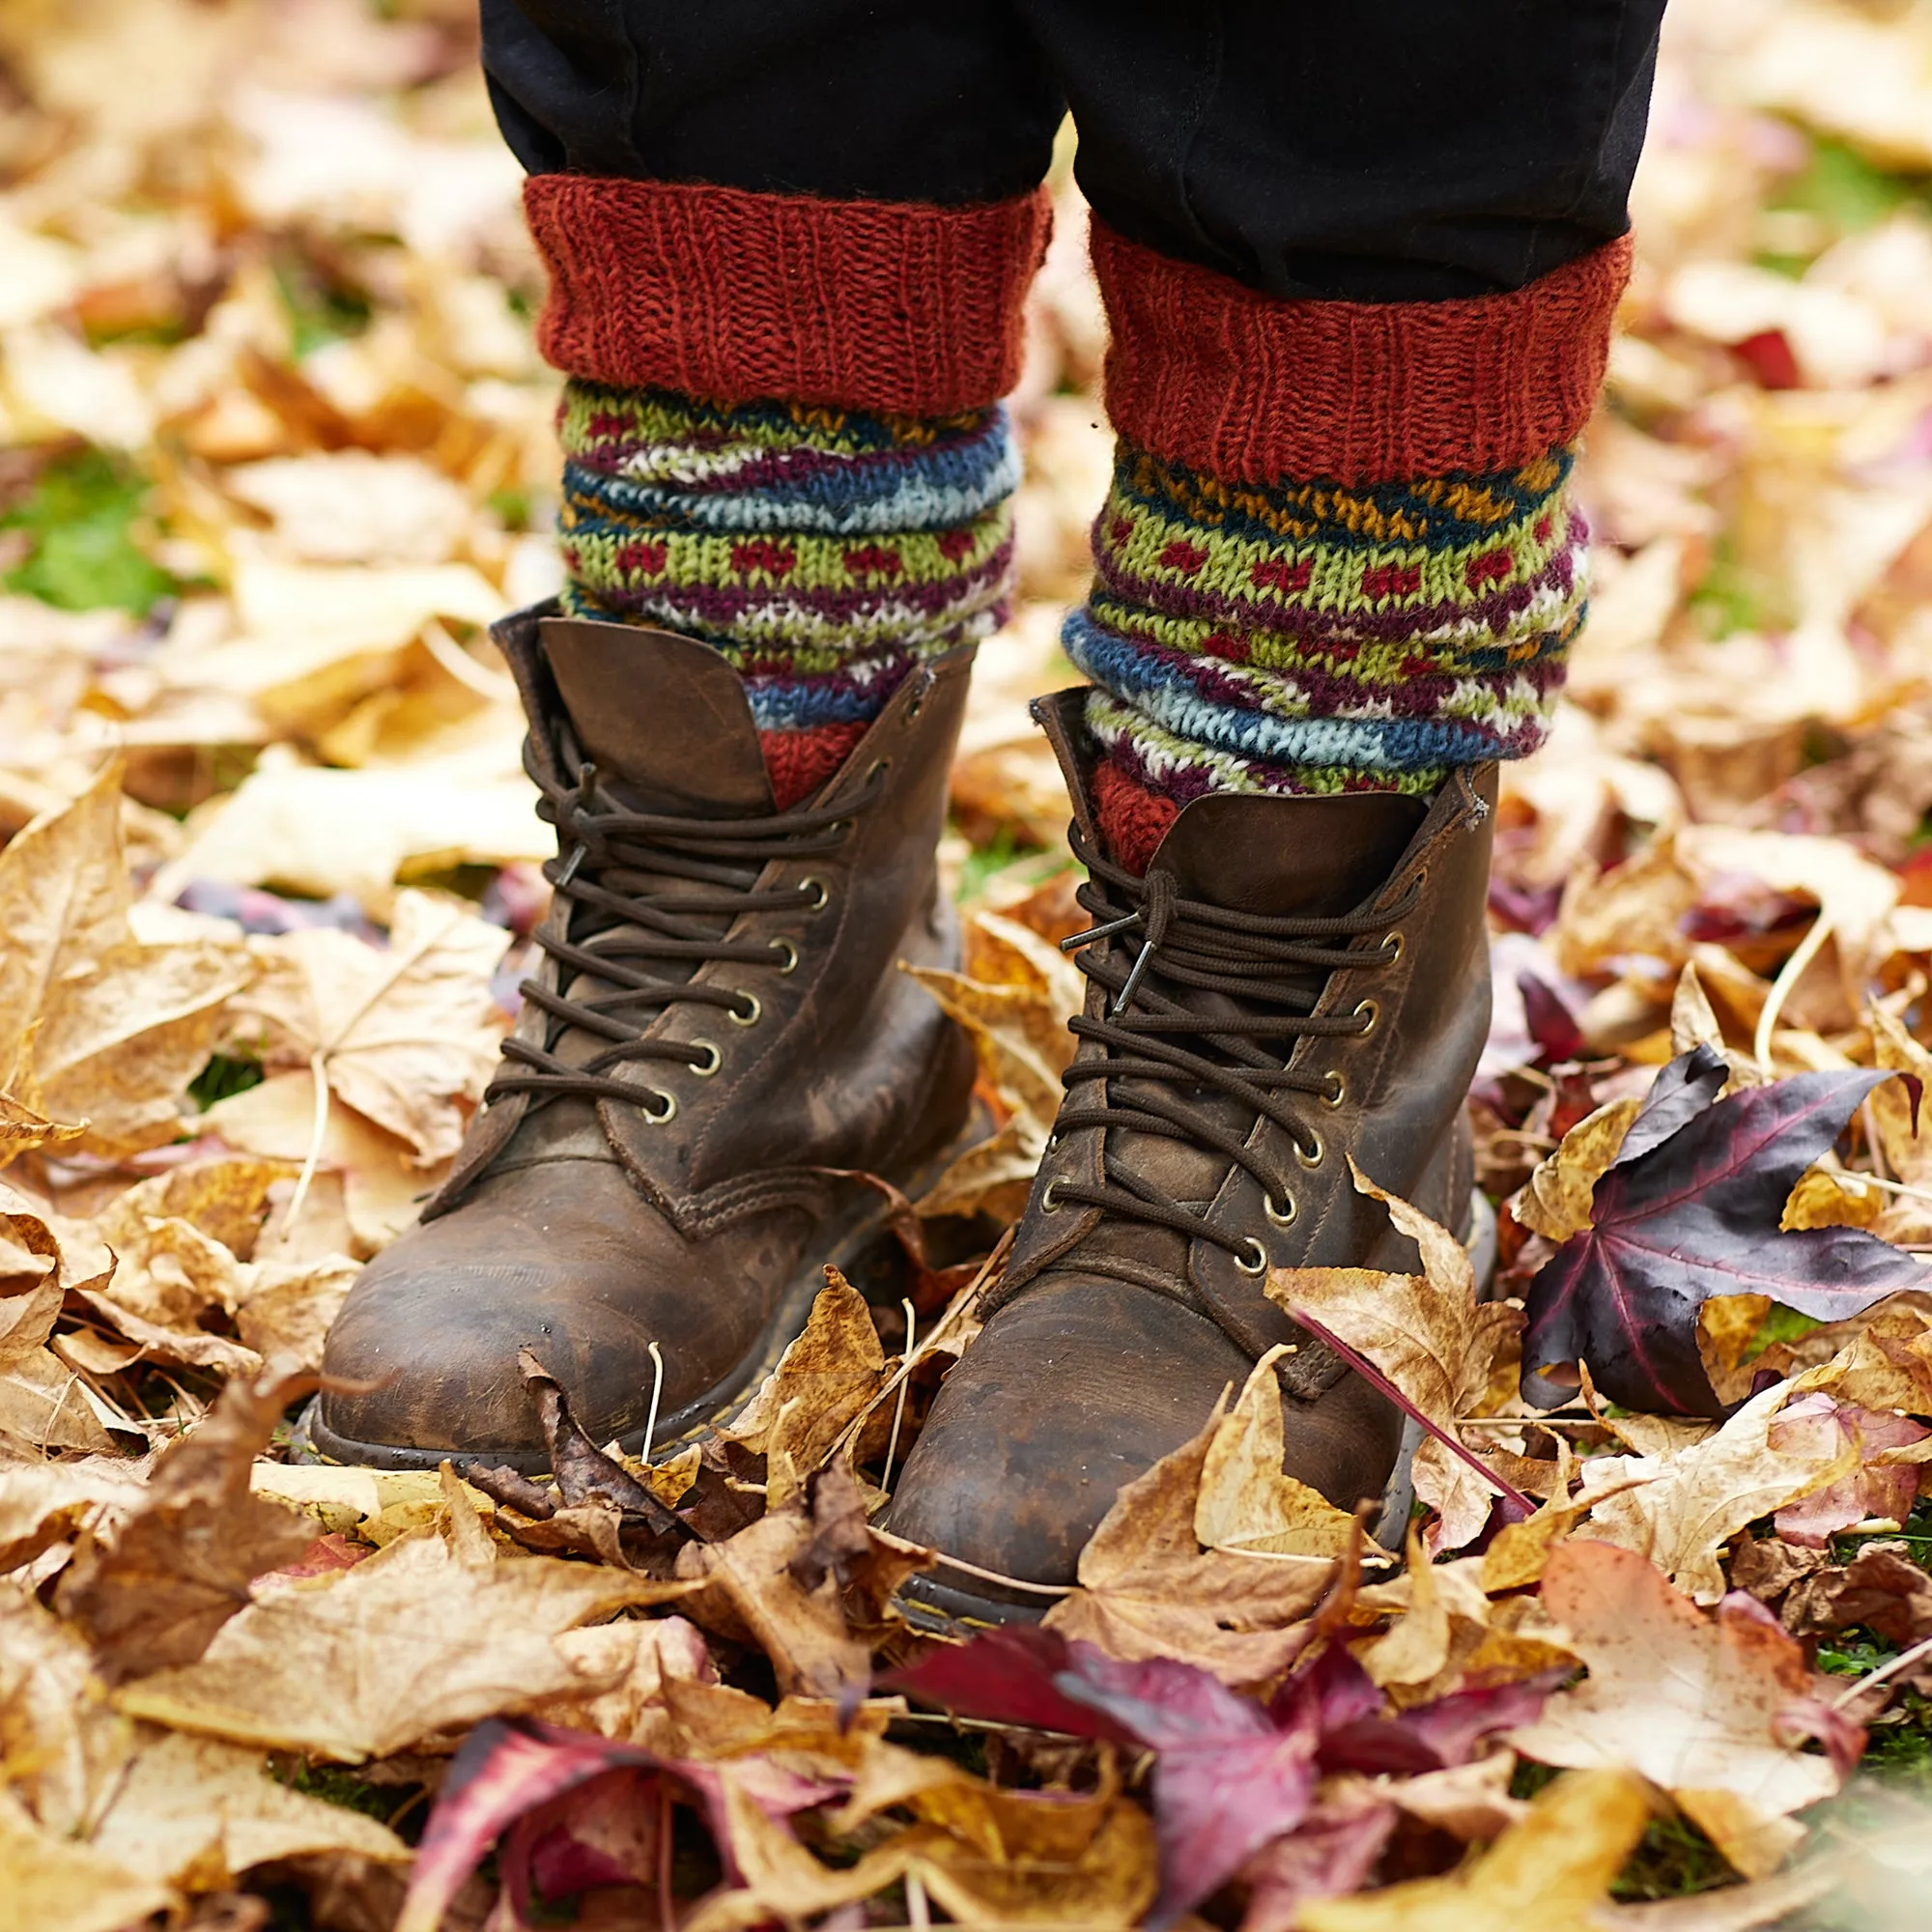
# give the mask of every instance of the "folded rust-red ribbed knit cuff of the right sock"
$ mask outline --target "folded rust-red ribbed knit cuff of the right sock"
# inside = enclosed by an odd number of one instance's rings
[[[1466,301],[1279,301],[1099,218],[1094,269],[1128,442],[1227,481],[1364,487],[1513,469],[1577,437],[1631,242]]]

